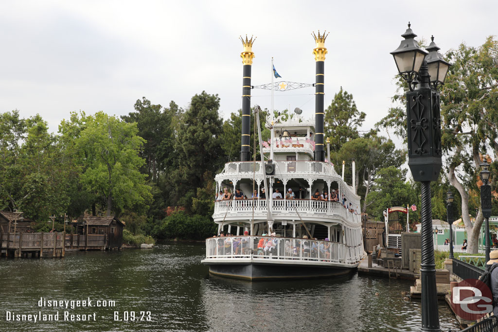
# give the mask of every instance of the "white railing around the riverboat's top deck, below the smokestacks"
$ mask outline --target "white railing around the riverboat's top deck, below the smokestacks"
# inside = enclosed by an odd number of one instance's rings
[[[330,163],[320,161],[273,161],[276,174],[280,173],[303,173],[303,174],[326,174],[337,175],[337,172]],[[225,174],[259,173],[261,162],[238,161],[225,164]]]

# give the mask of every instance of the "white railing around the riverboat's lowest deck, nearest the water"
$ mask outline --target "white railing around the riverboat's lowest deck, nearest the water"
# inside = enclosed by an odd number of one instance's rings
[[[220,236],[206,239],[206,258],[269,258],[356,263],[362,245],[294,237]]]

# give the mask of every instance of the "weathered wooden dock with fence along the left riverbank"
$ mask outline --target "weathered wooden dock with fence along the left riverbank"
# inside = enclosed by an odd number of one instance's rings
[[[0,253],[5,257],[64,257],[67,250],[105,250],[107,235],[62,233],[1,233]]]

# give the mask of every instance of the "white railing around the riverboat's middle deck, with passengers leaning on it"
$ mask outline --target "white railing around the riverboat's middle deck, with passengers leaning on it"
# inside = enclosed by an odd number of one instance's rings
[[[266,200],[228,200],[215,202],[215,215],[236,213],[266,213]],[[305,213],[336,215],[360,220],[360,215],[346,209],[341,203],[315,200],[273,200],[272,213]]]

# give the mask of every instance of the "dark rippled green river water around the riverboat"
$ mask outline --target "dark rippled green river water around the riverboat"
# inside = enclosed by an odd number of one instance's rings
[[[226,280],[208,276],[200,264],[204,250],[203,243],[175,243],[151,250],[68,253],[63,259],[2,259],[0,331],[420,330],[420,303],[401,296],[411,282],[356,274],[335,281]],[[68,309],[40,307],[40,298],[46,305],[90,298],[93,307],[71,309],[70,302]],[[116,306],[96,307],[99,300]],[[449,308],[440,304],[442,331],[457,329]],[[59,312],[59,321],[6,321],[7,311]],[[64,321],[64,312],[92,319],[95,313],[96,321]]]

